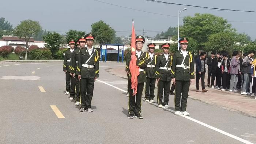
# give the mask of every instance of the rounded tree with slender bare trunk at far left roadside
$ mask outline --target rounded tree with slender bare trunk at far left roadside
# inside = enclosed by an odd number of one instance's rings
[[[26,42],[26,54],[25,54],[25,60],[27,60],[27,51],[29,48],[29,40],[32,37],[32,35],[37,35],[38,32],[42,29],[39,22],[33,21],[30,19],[21,21],[18,26],[16,26],[16,35],[19,38],[23,38]]]

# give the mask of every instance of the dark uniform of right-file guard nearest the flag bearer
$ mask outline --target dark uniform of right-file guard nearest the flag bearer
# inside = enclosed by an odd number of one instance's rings
[[[148,54],[149,56],[149,54]],[[152,59],[149,56],[147,62],[147,68],[145,68],[146,71],[146,87],[145,87],[145,96],[148,100],[154,100],[155,95],[155,79],[156,79],[156,72],[155,72],[155,65],[157,64],[157,55],[153,55]]]

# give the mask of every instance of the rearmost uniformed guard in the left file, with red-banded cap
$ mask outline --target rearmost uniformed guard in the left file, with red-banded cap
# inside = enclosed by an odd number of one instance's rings
[[[69,95],[69,100],[72,101],[75,98],[75,78],[72,77],[71,73],[71,56],[75,50],[75,42],[72,39],[69,42],[70,49],[64,53],[63,71],[66,74],[66,95]]]

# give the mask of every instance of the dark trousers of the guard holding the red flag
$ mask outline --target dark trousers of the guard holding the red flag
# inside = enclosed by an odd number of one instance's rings
[[[144,87],[144,83],[138,83],[137,85],[137,94],[135,96],[132,95],[131,89],[131,80],[129,80],[129,103],[128,103],[128,113],[135,114],[136,116],[141,114],[141,97],[142,91]]]

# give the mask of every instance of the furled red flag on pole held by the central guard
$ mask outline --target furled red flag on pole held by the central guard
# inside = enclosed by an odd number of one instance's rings
[[[134,22],[132,19],[132,39],[131,39],[131,62],[129,64],[129,69],[131,72],[131,88],[133,90],[133,96],[137,94],[137,86],[138,86],[138,75],[139,73],[139,67],[136,65],[137,57],[135,56],[136,53],[136,44],[135,44],[135,30],[134,30]]]

